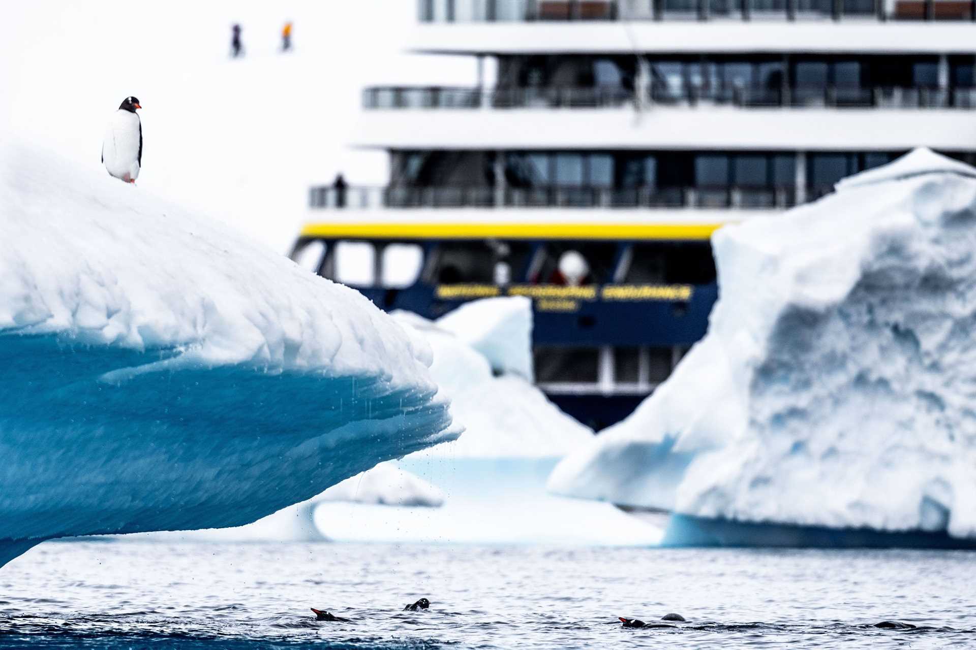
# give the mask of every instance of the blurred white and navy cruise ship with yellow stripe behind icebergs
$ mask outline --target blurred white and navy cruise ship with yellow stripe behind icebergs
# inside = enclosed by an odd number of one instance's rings
[[[976,164],[971,0],[420,0],[418,19],[411,50],[474,57],[474,78],[364,89],[353,144],[387,151],[389,180],[310,188],[292,256],[427,318],[528,296],[537,384],[597,430],[704,335],[715,229],[916,146]]]

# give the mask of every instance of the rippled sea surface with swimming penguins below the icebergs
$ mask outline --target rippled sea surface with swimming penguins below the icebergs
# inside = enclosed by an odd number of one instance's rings
[[[402,607],[427,596],[427,611]],[[317,623],[309,607],[349,623]],[[625,630],[618,616],[671,629]],[[899,620],[910,631],[872,624]],[[0,644],[61,648],[976,647],[976,554],[47,543]]]

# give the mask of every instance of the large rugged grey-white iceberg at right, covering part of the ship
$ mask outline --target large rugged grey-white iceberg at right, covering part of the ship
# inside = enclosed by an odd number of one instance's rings
[[[672,511],[671,543],[976,538],[976,170],[916,150],[712,245],[706,337],[549,488]]]

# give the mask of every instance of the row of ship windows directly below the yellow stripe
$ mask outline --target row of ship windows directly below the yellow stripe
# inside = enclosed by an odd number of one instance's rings
[[[485,240],[424,246],[313,240],[296,250],[293,257],[309,271],[351,287],[406,288],[418,282],[428,285],[570,284],[560,271],[560,261],[567,254],[583,261],[580,268],[584,272],[572,279],[574,285],[708,285],[715,280],[712,249],[707,242],[632,246],[552,242],[540,246]]]

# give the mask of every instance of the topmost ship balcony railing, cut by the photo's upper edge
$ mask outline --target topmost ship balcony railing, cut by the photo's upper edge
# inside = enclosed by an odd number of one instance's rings
[[[662,19],[976,20],[972,0],[419,0],[422,22]]]

